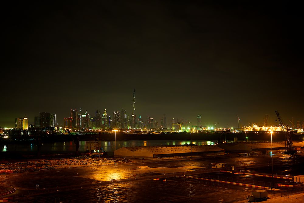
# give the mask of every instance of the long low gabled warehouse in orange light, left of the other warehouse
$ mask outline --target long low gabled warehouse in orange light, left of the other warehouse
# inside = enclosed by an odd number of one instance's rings
[[[192,145],[192,156],[222,155],[224,149],[216,145]],[[167,146],[142,146],[142,147],[122,147],[115,152],[119,157],[133,158],[164,158],[174,156],[190,156],[191,145],[167,145]]]

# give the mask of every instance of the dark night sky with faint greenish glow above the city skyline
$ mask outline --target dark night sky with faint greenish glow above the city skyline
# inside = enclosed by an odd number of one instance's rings
[[[203,125],[304,120],[302,7],[287,2],[2,5],[0,126],[124,108]]]

